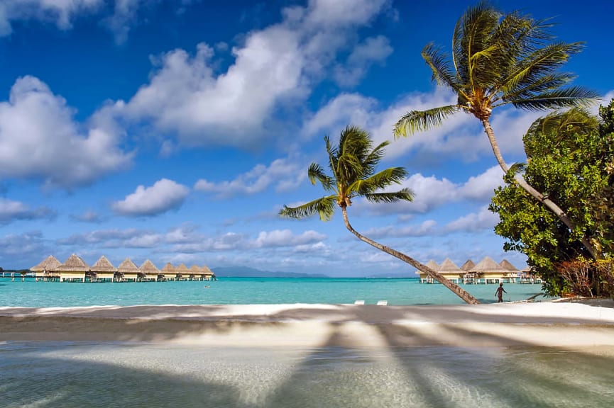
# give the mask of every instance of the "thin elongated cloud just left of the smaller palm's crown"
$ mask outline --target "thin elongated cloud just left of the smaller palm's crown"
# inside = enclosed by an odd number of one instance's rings
[[[305,173],[304,166],[296,160],[276,159],[269,166],[258,164],[232,181],[215,183],[200,179],[194,184],[194,190],[213,193],[217,198],[261,193],[272,185],[275,185],[276,191],[288,191],[305,179]]]

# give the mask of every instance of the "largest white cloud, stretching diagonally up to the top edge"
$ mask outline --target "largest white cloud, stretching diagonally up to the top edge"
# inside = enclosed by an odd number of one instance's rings
[[[275,111],[285,101],[302,101],[339,52],[349,52],[348,63],[361,72],[390,53],[385,38],[357,43],[355,35],[387,6],[385,0],[313,0],[285,8],[283,21],[252,31],[232,48],[226,72],[214,72],[215,51],[207,44],[197,45],[194,55],[167,52],[154,59],[149,83],[117,104],[117,115],[152,120],[185,145],[258,145]]]

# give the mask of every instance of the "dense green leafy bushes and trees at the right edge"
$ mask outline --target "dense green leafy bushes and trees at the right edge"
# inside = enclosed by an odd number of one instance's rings
[[[504,248],[527,255],[550,295],[614,297],[614,100],[599,111],[601,118],[574,108],[535,120],[523,137],[527,164],[512,167],[490,204]],[[520,188],[515,170],[559,203],[574,229]],[[579,237],[603,259],[593,259]]]

